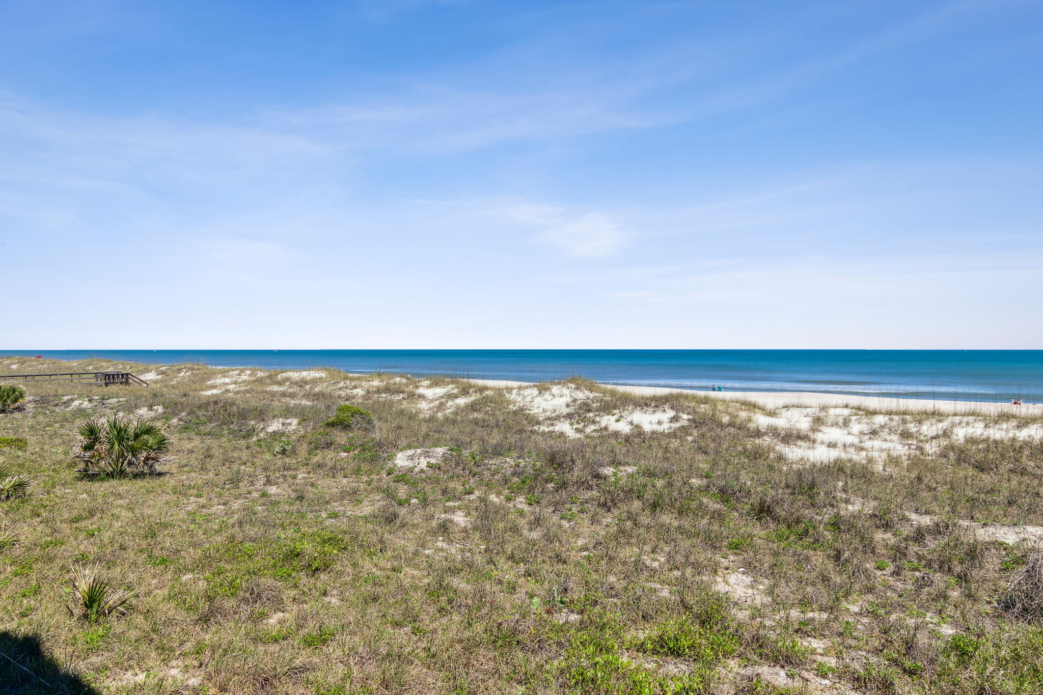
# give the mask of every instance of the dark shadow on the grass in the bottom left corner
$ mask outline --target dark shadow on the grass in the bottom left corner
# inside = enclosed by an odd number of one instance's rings
[[[78,675],[48,656],[39,638],[6,630],[0,630],[0,693],[98,695]]]

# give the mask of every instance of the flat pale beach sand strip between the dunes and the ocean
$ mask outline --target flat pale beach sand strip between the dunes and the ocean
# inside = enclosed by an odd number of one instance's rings
[[[499,388],[516,389],[533,386],[528,381],[503,381],[495,379],[468,379],[474,383]],[[1011,405],[966,400],[927,400],[919,398],[884,398],[881,396],[847,396],[844,394],[822,394],[807,392],[765,392],[765,391],[696,391],[694,389],[671,389],[665,387],[631,387],[602,383],[607,389],[615,389],[638,396],[686,393],[722,400],[745,400],[765,407],[860,407],[872,411],[905,411],[921,413],[1011,413],[1035,417],[1043,415],[1043,404]]]

